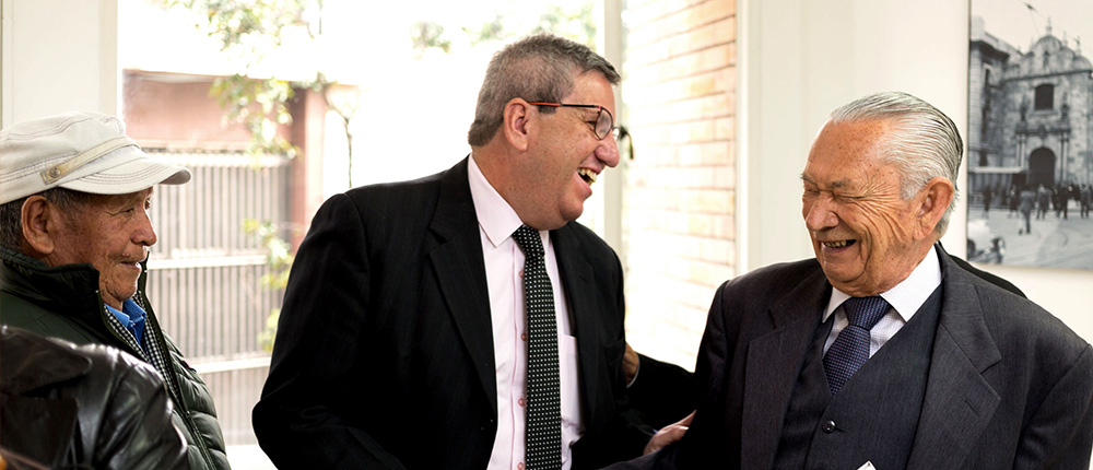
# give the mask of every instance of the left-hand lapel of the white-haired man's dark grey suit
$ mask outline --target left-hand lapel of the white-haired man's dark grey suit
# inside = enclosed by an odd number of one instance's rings
[[[801,361],[809,348],[831,286],[819,268],[771,307],[774,330],[748,344],[741,419],[741,461],[774,463]],[[765,462],[765,465],[764,465]]]

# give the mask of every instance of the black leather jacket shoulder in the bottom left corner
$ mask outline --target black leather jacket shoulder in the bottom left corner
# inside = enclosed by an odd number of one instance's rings
[[[0,328],[3,445],[50,468],[187,469],[171,400],[150,365]]]

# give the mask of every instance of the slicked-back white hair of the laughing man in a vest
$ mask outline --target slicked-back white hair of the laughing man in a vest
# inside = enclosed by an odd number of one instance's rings
[[[936,232],[943,235],[949,216],[956,208],[956,173],[964,144],[949,116],[929,103],[902,92],[883,92],[858,98],[831,113],[830,122],[886,119],[896,131],[880,143],[882,157],[900,172],[902,197],[910,199],[936,177],[953,185],[953,200],[938,222]]]

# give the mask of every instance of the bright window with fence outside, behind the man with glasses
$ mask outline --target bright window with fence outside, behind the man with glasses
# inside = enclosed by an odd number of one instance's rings
[[[247,8],[254,2],[238,0],[117,1],[121,3],[118,44],[124,58],[119,61],[125,70],[122,94],[130,136],[146,149],[161,149],[164,157],[177,163],[185,160],[185,166],[193,172],[190,184],[156,190],[158,202],[153,208],[162,211],[154,221],[163,236],[155,247],[157,256],[152,258],[158,265],[150,266],[155,270],[150,275],[150,297],[155,299],[164,330],[177,340],[213,393],[232,466],[271,469],[271,462],[255,445],[250,412],[269,371],[269,352],[263,346],[272,338],[267,327],[271,318],[275,325],[272,313],[279,310],[283,296],[280,287],[262,282],[267,274],[277,274],[267,255],[286,250],[282,243],[298,239],[309,225],[302,219],[306,215],[297,215],[308,211],[294,212],[294,208],[307,209],[305,204],[313,203],[308,201],[316,199],[315,192],[326,199],[351,185],[418,178],[461,160],[470,150],[467,117],[473,114],[491,52],[531,33],[533,27],[593,44],[597,25],[589,14],[592,3],[551,0],[541,2],[541,8],[495,13],[493,8],[481,5],[495,3],[502,8],[508,2],[480,0],[479,8],[470,9],[471,14],[458,14],[467,10],[459,2],[430,1],[432,8],[396,9],[399,13],[393,17],[398,21],[392,21],[386,14],[375,14],[377,10],[371,3],[355,0],[318,2],[320,7],[314,12],[296,10],[316,3],[298,0],[267,1],[270,9],[261,11]],[[184,8],[187,3],[195,9]],[[237,15],[248,22],[251,16],[269,20],[263,15],[282,10],[292,21],[307,23],[314,19],[317,23],[259,30],[247,33],[251,37],[247,40],[231,35],[232,19]],[[320,32],[317,34],[324,40],[314,40],[313,32]],[[220,40],[205,40],[213,33],[213,39],[227,34],[232,47],[238,49],[224,52]],[[402,40],[408,33],[412,47]],[[140,39],[153,36],[154,42]],[[362,52],[355,46],[384,40],[399,47]],[[369,59],[345,66],[343,58],[360,58],[361,54]],[[233,62],[225,56],[245,57]],[[248,66],[267,57],[270,61],[262,62],[265,67]],[[369,62],[388,66],[381,73],[359,67]],[[232,77],[256,70],[255,77]],[[260,149],[269,152],[266,156],[251,157],[248,152],[256,142],[254,132],[243,124],[225,120],[227,110],[216,97],[227,95],[235,102],[263,105],[261,99],[285,99],[284,89],[254,91],[274,82],[274,74],[309,80],[317,70],[322,71],[322,80],[316,79],[314,87],[293,89],[295,101],[287,103],[293,119],[279,124],[279,132],[294,137],[312,163],[302,169],[287,154],[266,146]],[[440,85],[436,81],[438,73],[444,74]],[[228,80],[214,86],[214,78]],[[327,89],[326,83],[333,81],[341,93]],[[210,89],[216,90],[216,97],[211,96]],[[234,97],[238,95],[246,99]],[[430,111],[428,139],[422,141],[420,129],[406,126],[421,119],[421,106],[453,101],[459,106]],[[334,106],[346,113],[332,110]],[[157,109],[181,111],[163,114]],[[310,125],[316,121],[325,125]],[[263,131],[277,128],[273,120],[256,127]],[[356,152],[364,157],[355,162],[350,161],[354,153],[348,146],[352,142],[350,132],[357,137],[356,149],[364,150]],[[262,141],[267,140],[262,132],[258,133]],[[319,143],[306,143],[312,141]],[[408,141],[414,141],[413,165],[367,156],[397,154]],[[366,142],[366,148],[360,142]],[[312,192],[305,193],[305,185],[293,185],[301,180],[307,181],[306,191]],[[604,205],[602,201],[599,204]],[[586,215],[593,212],[591,201],[585,207]],[[310,212],[314,209],[317,207]],[[246,226],[252,226],[256,233],[248,233]],[[280,239],[267,240],[256,236],[258,233]]]

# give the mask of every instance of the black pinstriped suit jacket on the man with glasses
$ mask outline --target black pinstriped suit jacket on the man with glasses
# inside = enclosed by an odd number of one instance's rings
[[[497,427],[490,299],[467,161],[326,201],[296,255],[259,444],[281,468],[485,468]],[[633,458],[622,268],[584,226],[552,231],[579,361],[574,468]]]

